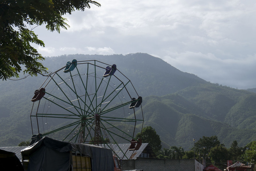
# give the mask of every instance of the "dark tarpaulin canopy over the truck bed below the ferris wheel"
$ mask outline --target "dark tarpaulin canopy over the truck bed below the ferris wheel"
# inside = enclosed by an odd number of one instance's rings
[[[72,170],[72,153],[91,158],[92,171],[113,171],[112,150],[90,144],[69,143],[44,137],[21,151],[29,159],[28,171]]]

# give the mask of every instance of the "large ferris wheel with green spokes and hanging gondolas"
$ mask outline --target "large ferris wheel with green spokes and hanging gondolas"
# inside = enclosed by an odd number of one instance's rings
[[[129,150],[141,145],[134,136],[143,128],[142,97],[115,64],[67,62],[47,76],[31,101],[32,134],[36,123],[38,135],[108,146],[121,152],[119,159],[128,158],[118,143],[131,143]]]

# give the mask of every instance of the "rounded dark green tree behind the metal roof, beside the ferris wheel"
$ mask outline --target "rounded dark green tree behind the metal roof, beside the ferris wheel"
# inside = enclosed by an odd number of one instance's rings
[[[162,148],[160,137],[156,134],[156,130],[151,126],[143,128],[141,133],[136,135],[136,138],[141,138],[142,143],[148,143],[155,153]]]

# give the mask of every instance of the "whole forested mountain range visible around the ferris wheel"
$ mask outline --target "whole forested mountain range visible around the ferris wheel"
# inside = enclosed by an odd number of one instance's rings
[[[218,136],[230,146],[255,140],[256,94],[207,82],[145,53],[128,55],[63,55],[46,58],[49,72],[67,61],[99,60],[116,64],[143,97],[144,126],[152,126],[163,147],[193,147],[193,138]],[[21,75],[22,77],[22,75]],[[0,146],[16,146],[31,138],[30,112],[34,91],[45,77],[0,82]]]

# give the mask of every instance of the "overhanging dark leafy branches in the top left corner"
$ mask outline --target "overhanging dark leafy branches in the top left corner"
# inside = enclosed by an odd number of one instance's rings
[[[47,71],[41,61],[41,54],[31,43],[44,46],[36,33],[29,27],[45,25],[50,31],[67,29],[68,24],[62,15],[75,10],[84,11],[90,4],[100,6],[91,0],[3,0],[0,2],[0,79],[42,74]]]

